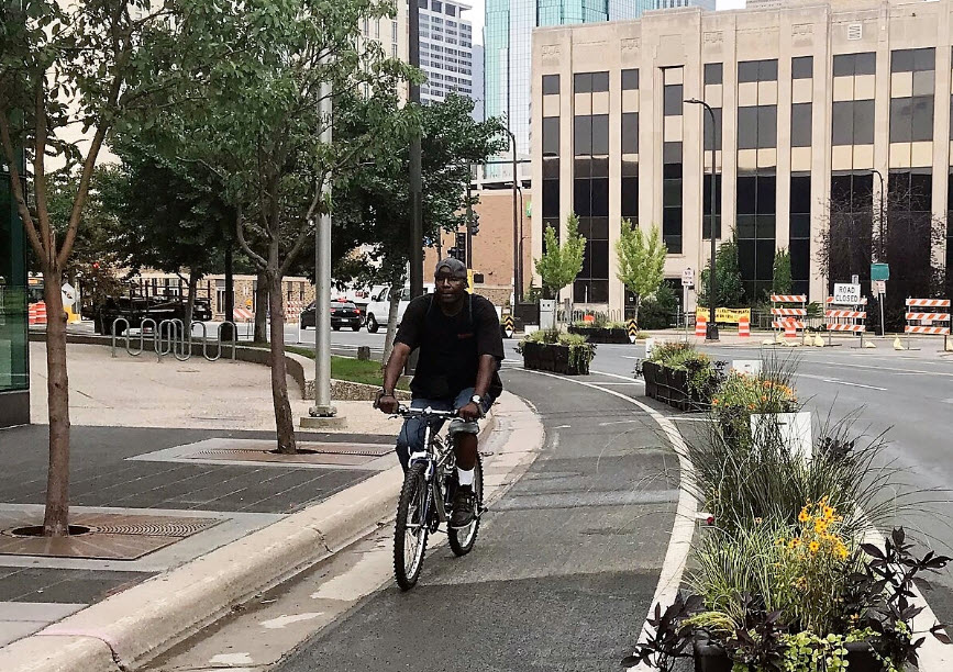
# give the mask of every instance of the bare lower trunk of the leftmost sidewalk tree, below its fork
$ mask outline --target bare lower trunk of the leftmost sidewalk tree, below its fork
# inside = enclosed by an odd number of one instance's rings
[[[69,379],[66,372],[66,313],[63,272],[43,269],[46,302],[46,395],[49,411],[49,470],[46,472],[46,513],[43,534],[69,534]]]

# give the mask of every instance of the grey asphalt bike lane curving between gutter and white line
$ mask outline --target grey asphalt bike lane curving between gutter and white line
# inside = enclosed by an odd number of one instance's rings
[[[434,550],[417,587],[389,584],[275,670],[618,668],[658,580],[677,459],[625,400],[531,372],[505,381],[535,404],[546,441],[484,518],[474,552]]]

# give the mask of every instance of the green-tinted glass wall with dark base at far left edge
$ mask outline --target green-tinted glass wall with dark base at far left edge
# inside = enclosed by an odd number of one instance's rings
[[[10,193],[10,176],[0,165],[0,395],[30,388],[29,350],[26,344],[26,256],[23,227]],[[13,404],[0,396],[7,411]],[[25,405],[30,421],[29,402]],[[0,425],[13,424],[0,408]]]

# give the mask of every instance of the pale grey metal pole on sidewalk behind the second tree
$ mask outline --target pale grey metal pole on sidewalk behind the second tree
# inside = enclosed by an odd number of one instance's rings
[[[321,142],[330,146],[331,83],[321,82],[321,117],[324,128]],[[337,410],[331,405],[331,173],[321,182],[322,210],[314,228],[314,405],[311,417],[333,417]]]

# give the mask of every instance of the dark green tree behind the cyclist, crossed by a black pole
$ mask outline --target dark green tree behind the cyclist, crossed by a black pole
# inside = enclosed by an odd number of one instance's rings
[[[423,237],[435,242],[442,232],[466,225],[468,165],[485,163],[503,147],[505,126],[497,119],[474,121],[474,102],[452,93],[443,101],[422,105],[421,176],[423,183]],[[397,114],[397,110],[394,111]],[[342,138],[366,133],[359,117],[341,128]],[[334,184],[333,256],[337,259],[337,280],[358,280],[365,284],[391,288],[391,311],[385,340],[387,361],[397,322],[397,299],[406,280],[410,260],[410,153],[407,130],[388,138],[389,149],[378,160],[359,166]],[[367,251],[355,254],[355,248]]]

